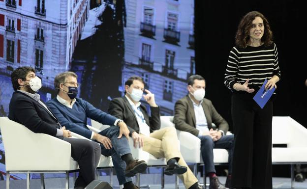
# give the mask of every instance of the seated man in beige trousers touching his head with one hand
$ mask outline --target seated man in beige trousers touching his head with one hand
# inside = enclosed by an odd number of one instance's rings
[[[165,174],[178,174],[186,189],[201,189],[198,180],[187,168],[184,159],[178,150],[176,129],[167,127],[160,129],[160,109],[155,104],[154,95],[145,89],[145,83],[140,77],[130,77],[125,82],[125,96],[114,98],[109,106],[109,113],[127,124],[134,147],[143,147],[156,158],[165,158],[167,167]],[[151,117],[145,106],[139,102],[144,97],[150,105]]]

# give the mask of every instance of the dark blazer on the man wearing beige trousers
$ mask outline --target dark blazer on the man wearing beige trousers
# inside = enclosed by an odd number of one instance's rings
[[[151,107],[151,117],[149,117],[145,106],[141,105],[140,109],[147,125],[150,127],[150,132],[152,133],[154,130],[159,130],[161,126],[160,108]],[[135,117],[135,113],[126,97],[114,98],[109,105],[108,112],[118,119],[122,119],[127,124],[130,136],[133,132],[140,132],[137,118]]]

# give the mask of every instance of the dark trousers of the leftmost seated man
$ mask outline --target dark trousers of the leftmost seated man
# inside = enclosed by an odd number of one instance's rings
[[[96,178],[96,167],[100,160],[99,143],[78,138],[63,138],[71,145],[71,157],[78,162],[80,172],[75,187],[86,187]]]

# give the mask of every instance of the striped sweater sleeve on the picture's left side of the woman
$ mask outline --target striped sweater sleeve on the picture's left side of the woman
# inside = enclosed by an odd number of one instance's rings
[[[225,73],[224,84],[229,88],[233,89],[233,85],[236,83],[236,76],[238,74],[238,63],[239,63],[239,53],[234,47],[229,53],[227,68]]]

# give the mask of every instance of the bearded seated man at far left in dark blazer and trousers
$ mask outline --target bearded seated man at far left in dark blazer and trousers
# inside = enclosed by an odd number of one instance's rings
[[[71,138],[70,131],[64,125],[61,126],[51,110],[40,100],[39,94],[35,93],[41,87],[41,80],[35,76],[33,68],[17,68],[12,72],[11,80],[15,92],[9,104],[8,118],[23,124],[34,133],[52,135],[69,142],[71,157],[80,167],[75,189],[84,189],[96,178],[100,146],[90,140]]]

